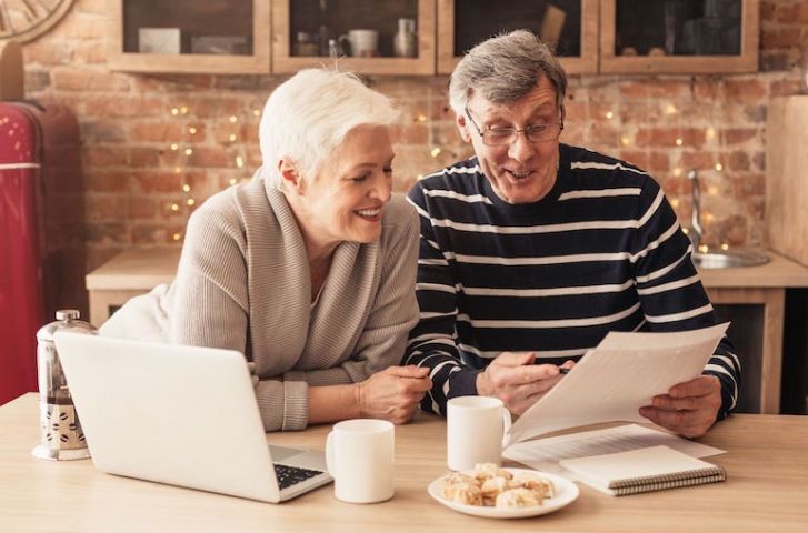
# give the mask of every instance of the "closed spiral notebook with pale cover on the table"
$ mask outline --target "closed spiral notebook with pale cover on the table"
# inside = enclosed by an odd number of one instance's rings
[[[721,466],[668,446],[559,461],[583,483],[612,496],[717,483],[727,479]]]

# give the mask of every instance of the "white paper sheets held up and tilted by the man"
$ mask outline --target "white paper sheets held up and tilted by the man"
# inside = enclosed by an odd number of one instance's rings
[[[513,422],[509,444],[598,422],[648,422],[639,408],[698,378],[728,323],[675,333],[611,332]]]

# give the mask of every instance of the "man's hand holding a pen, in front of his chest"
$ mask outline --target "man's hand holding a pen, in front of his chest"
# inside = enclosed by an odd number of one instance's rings
[[[562,378],[555,364],[533,364],[533,352],[502,352],[477,376],[477,393],[502,400],[511,413],[522,414]],[[572,368],[568,361],[563,368]]]

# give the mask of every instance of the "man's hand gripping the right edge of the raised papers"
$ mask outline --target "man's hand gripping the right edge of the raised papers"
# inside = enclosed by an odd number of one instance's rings
[[[668,394],[654,396],[650,405],[640,408],[640,415],[687,438],[707,433],[721,408],[721,382],[715,375],[700,375],[679,383]]]

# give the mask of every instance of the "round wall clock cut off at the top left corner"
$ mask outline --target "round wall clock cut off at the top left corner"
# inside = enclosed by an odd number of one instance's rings
[[[0,0],[0,40],[28,42],[53,28],[76,0]]]

